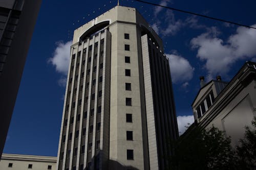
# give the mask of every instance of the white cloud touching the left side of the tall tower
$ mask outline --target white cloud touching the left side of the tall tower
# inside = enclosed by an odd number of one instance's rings
[[[49,62],[55,66],[57,72],[60,72],[63,75],[68,75],[70,46],[72,45],[72,41],[66,43],[59,41],[56,44],[57,47],[54,51],[54,55],[49,59]]]

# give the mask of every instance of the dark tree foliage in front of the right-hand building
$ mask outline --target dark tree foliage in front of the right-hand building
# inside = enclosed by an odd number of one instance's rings
[[[256,117],[252,125],[254,129],[245,127],[244,138],[236,148],[216,127],[205,130],[190,126],[185,135],[170,143],[174,151],[168,157],[170,169],[256,169]]]

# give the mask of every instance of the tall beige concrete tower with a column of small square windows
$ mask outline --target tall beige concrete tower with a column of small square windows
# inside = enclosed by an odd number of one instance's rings
[[[135,8],[74,31],[57,169],[165,169],[178,138],[168,59]]]

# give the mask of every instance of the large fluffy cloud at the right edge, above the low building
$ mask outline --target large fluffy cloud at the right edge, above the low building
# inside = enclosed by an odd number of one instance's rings
[[[213,27],[190,41],[191,47],[198,50],[197,57],[206,62],[204,67],[208,71],[208,80],[218,74],[226,76],[234,62],[239,59],[253,60],[256,55],[255,30],[239,27],[226,42],[218,35],[219,32]]]

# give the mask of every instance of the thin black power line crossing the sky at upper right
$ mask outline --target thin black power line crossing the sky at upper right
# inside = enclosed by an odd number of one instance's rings
[[[218,21],[222,21],[222,22],[232,23],[233,25],[238,25],[238,26],[242,26],[242,27],[246,27],[246,28],[256,29],[254,27],[246,26],[246,25],[243,25],[241,23],[232,22],[232,21],[228,21],[228,20],[224,20],[224,19],[220,19],[220,18],[214,18],[214,17],[210,17],[210,16],[206,16],[206,15],[202,15],[202,14],[198,14],[198,13],[194,13],[194,12],[184,11],[184,10],[180,10],[180,9],[176,9],[176,8],[172,8],[172,7],[167,7],[167,6],[163,6],[163,5],[158,5],[158,4],[154,4],[154,3],[150,3],[150,2],[146,2],[146,1],[141,1],[141,0],[134,0],[134,1],[145,3],[145,4],[150,4],[150,5],[154,5],[154,6],[159,6],[159,7],[163,7],[163,8],[167,8],[167,9],[174,10],[174,11],[184,12],[184,13],[187,13],[187,14],[197,15],[197,16],[201,16],[201,17],[204,17],[204,18],[208,18],[208,19],[213,19],[213,20],[218,20]]]

